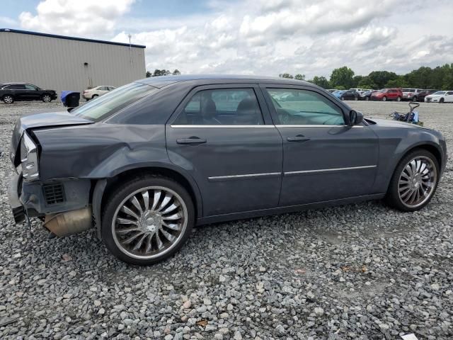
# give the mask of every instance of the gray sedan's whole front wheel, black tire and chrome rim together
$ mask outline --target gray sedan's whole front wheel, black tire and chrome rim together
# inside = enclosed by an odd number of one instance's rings
[[[386,202],[401,211],[420,210],[430,203],[439,176],[436,157],[427,150],[415,149],[396,166],[386,194]]]

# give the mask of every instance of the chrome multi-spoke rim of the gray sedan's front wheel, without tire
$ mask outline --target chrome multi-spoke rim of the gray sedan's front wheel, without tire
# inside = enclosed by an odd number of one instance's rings
[[[398,196],[403,205],[417,208],[434,193],[437,183],[437,169],[432,159],[418,156],[412,159],[399,177]]]

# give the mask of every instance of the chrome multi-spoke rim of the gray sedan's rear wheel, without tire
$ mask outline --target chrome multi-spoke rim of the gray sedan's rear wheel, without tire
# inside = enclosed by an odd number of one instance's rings
[[[134,191],[115,210],[112,234],[117,247],[134,259],[153,259],[176,246],[185,232],[188,210],[171,189]]]

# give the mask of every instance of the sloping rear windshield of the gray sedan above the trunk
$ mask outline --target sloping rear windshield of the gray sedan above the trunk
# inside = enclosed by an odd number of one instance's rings
[[[71,113],[77,117],[97,122],[157,90],[155,87],[146,84],[127,84],[99,98],[92,99],[92,101],[76,108]]]

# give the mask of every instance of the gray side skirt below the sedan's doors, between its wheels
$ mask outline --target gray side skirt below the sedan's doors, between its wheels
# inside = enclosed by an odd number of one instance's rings
[[[355,196],[355,197],[350,197],[350,198],[342,198],[340,200],[325,200],[323,202],[317,202],[317,203],[307,203],[307,204],[302,204],[302,205],[289,205],[287,207],[277,207],[277,208],[270,208],[270,209],[263,209],[263,210],[251,210],[251,211],[245,211],[245,212],[234,212],[232,214],[201,217],[201,218],[197,219],[197,225],[207,225],[209,223],[241,220],[241,219],[245,219],[245,218],[261,217],[261,216],[268,216],[268,215],[278,215],[278,214],[285,214],[287,212],[297,212],[297,211],[316,209],[316,208],[326,208],[326,207],[331,207],[331,206],[335,206],[335,205],[344,205],[344,204],[348,204],[348,203],[363,202],[365,200],[380,200],[380,199],[384,198],[384,196],[385,196],[385,193],[376,193],[374,195]]]

